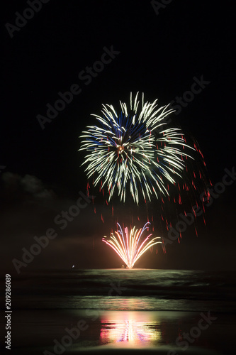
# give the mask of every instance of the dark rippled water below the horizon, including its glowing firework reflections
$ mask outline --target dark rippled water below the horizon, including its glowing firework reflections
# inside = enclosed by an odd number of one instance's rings
[[[235,354],[235,296],[235,272],[25,271],[6,354]]]

